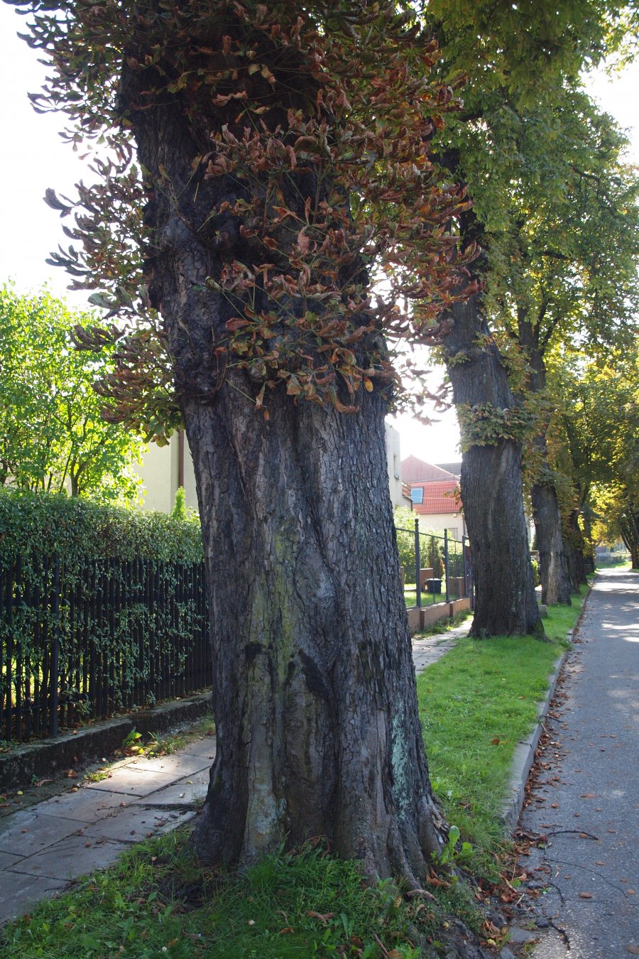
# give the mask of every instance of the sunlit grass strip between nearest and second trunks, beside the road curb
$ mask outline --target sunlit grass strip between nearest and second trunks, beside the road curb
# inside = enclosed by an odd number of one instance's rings
[[[536,722],[553,664],[580,615],[586,587],[572,606],[544,620],[550,643],[531,637],[460,639],[418,676],[423,737],[433,788],[449,823],[484,853],[503,840],[499,810],[517,742]]]

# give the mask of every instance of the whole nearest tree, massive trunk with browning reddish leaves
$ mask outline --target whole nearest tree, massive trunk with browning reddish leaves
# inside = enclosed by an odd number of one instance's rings
[[[383,334],[422,339],[472,292],[473,255],[451,267],[466,200],[429,153],[455,107],[429,80],[433,45],[394,4],[18,6],[54,68],[37,103],[115,156],[80,185],[74,246],[55,258],[102,286],[94,302],[142,314],[112,331],[111,415],[160,437],[183,418],[194,456],[217,720],[199,853],[234,862],[325,834],[369,875],[415,885],[439,820]]]

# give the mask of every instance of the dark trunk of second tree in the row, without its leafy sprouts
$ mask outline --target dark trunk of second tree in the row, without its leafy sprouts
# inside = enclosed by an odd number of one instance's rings
[[[473,407],[515,407],[481,294],[453,307],[444,349],[455,404],[466,409],[463,420]],[[498,437],[485,445],[470,442],[461,486],[476,590],[471,635],[543,636],[526,534],[521,444]]]

